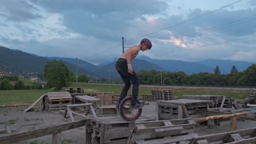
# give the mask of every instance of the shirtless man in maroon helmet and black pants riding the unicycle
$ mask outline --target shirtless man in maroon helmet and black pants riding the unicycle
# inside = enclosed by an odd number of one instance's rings
[[[119,108],[119,104],[126,97],[127,92],[132,84],[132,99],[131,99],[131,107],[130,109],[141,109],[143,105],[137,104],[137,97],[139,91],[139,79],[132,69],[131,61],[134,59],[140,50],[146,51],[150,50],[152,47],[152,43],[149,39],[142,39],[141,44],[130,47],[130,49],[126,50],[123,55],[120,56],[117,63],[115,64],[115,69],[117,69],[118,74],[121,79],[124,81],[124,87],[120,94],[120,98],[116,108]]]

